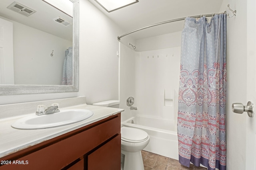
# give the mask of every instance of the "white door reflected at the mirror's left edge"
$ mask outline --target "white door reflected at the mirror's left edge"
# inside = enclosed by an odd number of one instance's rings
[[[0,84],[14,84],[12,22],[0,18]]]

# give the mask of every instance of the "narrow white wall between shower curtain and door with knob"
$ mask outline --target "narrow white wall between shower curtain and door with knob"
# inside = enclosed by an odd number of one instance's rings
[[[232,112],[232,103],[246,104],[246,1],[225,0],[220,12],[237,11],[227,18],[226,140],[227,170],[245,170],[246,116]]]

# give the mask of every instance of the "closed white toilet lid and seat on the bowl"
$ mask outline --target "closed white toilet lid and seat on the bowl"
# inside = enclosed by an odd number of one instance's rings
[[[121,139],[128,142],[141,142],[148,139],[148,133],[133,127],[121,127]]]

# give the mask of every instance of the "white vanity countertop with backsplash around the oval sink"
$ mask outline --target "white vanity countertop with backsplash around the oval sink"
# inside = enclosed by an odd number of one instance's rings
[[[59,103],[62,109],[88,109],[94,112],[94,115],[86,120],[79,121],[70,125],[53,127],[48,129],[21,130],[14,129],[11,124],[21,117],[35,114],[38,104],[50,106],[52,103]],[[9,115],[8,118],[0,119],[0,157],[10,153],[17,152],[27,147],[36,145],[43,141],[63,135],[90,123],[104,119],[110,115],[120,113],[123,109],[91,106],[86,104],[86,97],[66,98],[58,100],[47,100],[30,103],[20,103],[11,105],[0,105],[1,115]],[[8,114],[10,113],[10,114]],[[17,114],[19,113],[19,115]],[[54,113],[53,113],[54,114]],[[17,140],[18,139],[18,140]]]

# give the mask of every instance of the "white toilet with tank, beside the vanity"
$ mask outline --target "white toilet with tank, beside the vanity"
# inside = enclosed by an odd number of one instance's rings
[[[118,100],[94,103],[94,106],[119,108]],[[149,143],[148,133],[133,127],[121,127],[121,170],[144,170],[141,150]]]

